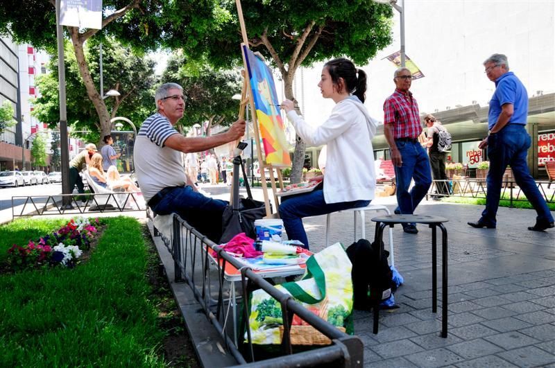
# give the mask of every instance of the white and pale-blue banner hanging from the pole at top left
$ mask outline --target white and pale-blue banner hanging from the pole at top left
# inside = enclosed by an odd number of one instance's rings
[[[61,0],[60,24],[102,29],[102,0]]]

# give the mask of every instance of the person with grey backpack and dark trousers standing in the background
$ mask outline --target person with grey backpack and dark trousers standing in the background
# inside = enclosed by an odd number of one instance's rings
[[[427,114],[424,122],[428,128],[426,146],[428,147],[429,164],[432,166],[432,177],[434,180],[438,180],[436,181],[437,195],[432,195],[432,199],[441,200],[443,196],[449,196],[450,192],[450,185],[445,173],[445,160],[447,159],[447,150],[450,149],[451,142],[449,141],[447,146],[447,142],[440,139],[440,134],[444,135],[447,129],[441,125],[441,122],[434,115]],[[447,132],[447,134],[449,133]]]

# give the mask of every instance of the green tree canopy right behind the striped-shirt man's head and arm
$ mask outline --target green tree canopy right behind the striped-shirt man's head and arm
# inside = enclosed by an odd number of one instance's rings
[[[237,119],[239,101],[232,96],[241,93],[239,70],[214,69],[205,60],[191,60],[176,52],[168,60],[162,81],[178,83],[188,97],[182,125],[208,121],[210,135],[212,126],[229,125]]]

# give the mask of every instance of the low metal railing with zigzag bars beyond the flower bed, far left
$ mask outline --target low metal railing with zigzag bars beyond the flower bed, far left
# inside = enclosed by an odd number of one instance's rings
[[[22,216],[79,215],[87,213],[146,211],[139,192],[14,195],[12,218]],[[64,198],[70,198],[69,206]]]

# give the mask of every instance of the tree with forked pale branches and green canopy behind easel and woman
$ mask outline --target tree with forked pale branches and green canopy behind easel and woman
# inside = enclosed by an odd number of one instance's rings
[[[359,66],[391,43],[391,6],[371,0],[243,0],[248,44],[276,67],[286,98],[294,100],[293,78],[301,66],[345,56]],[[205,50],[216,65],[237,64],[242,41],[234,1],[232,15],[217,33],[207,34]],[[300,181],[305,145],[297,139],[291,181]]]

